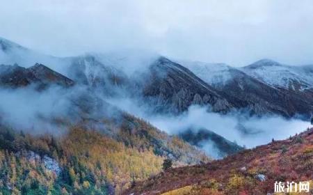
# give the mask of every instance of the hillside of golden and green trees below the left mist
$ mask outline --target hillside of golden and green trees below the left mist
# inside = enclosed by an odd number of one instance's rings
[[[117,133],[109,136],[77,125],[54,136],[0,126],[0,192],[120,194],[159,173],[163,159],[172,159],[175,166],[208,160],[134,116],[125,115],[120,128],[113,128]]]

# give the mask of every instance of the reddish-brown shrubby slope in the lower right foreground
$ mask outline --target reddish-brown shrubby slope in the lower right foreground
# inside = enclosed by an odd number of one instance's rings
[[[124,194],[272,194],[275,181],[312,185],[312,155],[313,129],[308,129],[208,164],[168,169]]]

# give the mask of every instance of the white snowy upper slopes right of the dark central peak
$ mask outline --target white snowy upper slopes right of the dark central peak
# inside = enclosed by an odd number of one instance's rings
[[[313,88],[313,65],[291,66],[270,59],[262,59],[243,68],[225,63],[178,62],[213,86],[224,86],[234,77],[246,74],[274,88],[294,91]]]

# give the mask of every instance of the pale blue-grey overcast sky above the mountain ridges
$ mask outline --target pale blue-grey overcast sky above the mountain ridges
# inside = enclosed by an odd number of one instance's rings
[[[175,59],[313,63],[313,1],[1,1],[0,36],[40,52],[149,49]]]

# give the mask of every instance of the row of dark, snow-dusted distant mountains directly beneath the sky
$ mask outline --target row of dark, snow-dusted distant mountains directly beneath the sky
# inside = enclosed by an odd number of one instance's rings
[[[222,113],[237,109],[259,116],[313,115],[312,65],[288,66],[264,59],[233,68],[223,63],[177,63],[163,56],[132,59],[125,54],[57,58],[0,40],[0,63],[26,68],[42,63],[78,84],[111,97],[131,97],[157,112],[179,114],[200,104]],[[133,65],[142,68],[131,70]]]

